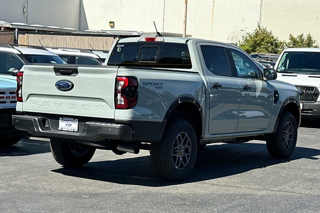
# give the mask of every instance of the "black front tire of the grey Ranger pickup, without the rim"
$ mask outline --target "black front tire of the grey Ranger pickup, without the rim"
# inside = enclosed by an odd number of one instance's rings
[[[293,132],[293,141],[290,147],[285,147],[283,137],[284,137],[284,129],[287,123],[292,124],[292,132]],[[275,133],[272,133],[266,140],[267,149],[269,154],[273,158],[288,158],[292,155],[294,148],[297,143],[298,136],[298,125],[295,117],[290,112],[284,112],[279,120],[277,130]]]

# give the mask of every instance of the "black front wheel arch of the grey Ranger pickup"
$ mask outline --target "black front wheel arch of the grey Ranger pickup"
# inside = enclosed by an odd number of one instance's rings
[[[283,114],[283,112],[291,112],[293,114],[293,116],[296,118],[297,121],[297,126],[300,126],[300,122],[301,122],[301,108],[300,108],[300,104],[296,99],[290,98],[284,101],[284,103],[282,104],[280,111],[278,113],[277,116],[277,120],[276,120],[276,124],[274,126],[273,132],[276,132],[279,120],[280,120],[280,116]]]

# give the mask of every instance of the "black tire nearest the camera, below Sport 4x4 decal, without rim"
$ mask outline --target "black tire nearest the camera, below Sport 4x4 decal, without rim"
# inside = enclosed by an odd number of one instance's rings
[[[182,169],[177,169],[173,162],[173,150],[176,137],[187,133],[191,142],[191,154],[188,163]],[[160,178],[166,181],[180,181],[188,177],[196,162],[197,155],[196,133],[190,122],[177,119],[167,124],[160,142],[151,144],[151,161]],[[186,158],[185,158],[186,159]]]

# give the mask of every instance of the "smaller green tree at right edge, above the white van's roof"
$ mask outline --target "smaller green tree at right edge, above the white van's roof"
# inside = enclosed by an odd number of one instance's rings
[[[294,37],[292,34],[289,35],[289,41],[286,43],[286,47],[319,47],[316,43],[317,40],[313,38],[310,33],[304,36],[303,33]]]

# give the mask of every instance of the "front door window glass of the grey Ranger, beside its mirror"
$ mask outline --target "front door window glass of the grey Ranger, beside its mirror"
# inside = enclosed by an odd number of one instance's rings
[[[236,66],[237,76],[242,78],[260,79],[258,67],[242,52],[230,49]]]

